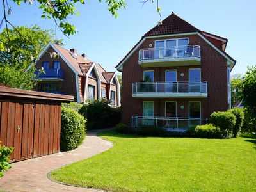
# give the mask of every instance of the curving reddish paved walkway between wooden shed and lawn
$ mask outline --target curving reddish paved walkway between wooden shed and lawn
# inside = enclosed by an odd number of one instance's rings
[[[112,143],[96,136],[98,132],[89,131],[83,144],[75,150],[12,163],[12,169],[0,178],[0,191],[97,191],[52,182],[47,173],[111,148]]]

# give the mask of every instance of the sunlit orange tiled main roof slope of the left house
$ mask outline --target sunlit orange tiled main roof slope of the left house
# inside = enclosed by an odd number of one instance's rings
[[[72,52],[60,47],[59,45],[54,44],[54,46],[61,52],[61,54],[68,60],[68,62],[76,69],[79,75],[83,76],[83,72],[79,67],[79,63],[93,63],[93,61],[83,58],[79,54],[76,55],[76,58],[72,56]]]

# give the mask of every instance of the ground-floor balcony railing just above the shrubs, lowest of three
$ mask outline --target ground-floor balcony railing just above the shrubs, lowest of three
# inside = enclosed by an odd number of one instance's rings
[[[166,131],[186,131],[196,125],[207,124],[207,118],[161,117],[161,116],[132,116],[132,127],[151,125],[163,127]]]

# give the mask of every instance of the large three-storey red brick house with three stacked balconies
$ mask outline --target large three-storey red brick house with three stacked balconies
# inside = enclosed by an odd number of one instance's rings
[[[188,128],[230,108],[236,60],[225,52],[227,42],[174,13],[150,29],[116,65],[122,72],[122,122]]]

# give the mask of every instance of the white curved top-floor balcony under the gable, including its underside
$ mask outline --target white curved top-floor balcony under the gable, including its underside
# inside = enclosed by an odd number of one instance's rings
[[[201,55],[198,45],[141,49],[139,51],[141,67],[200,65],[200,63]]]

